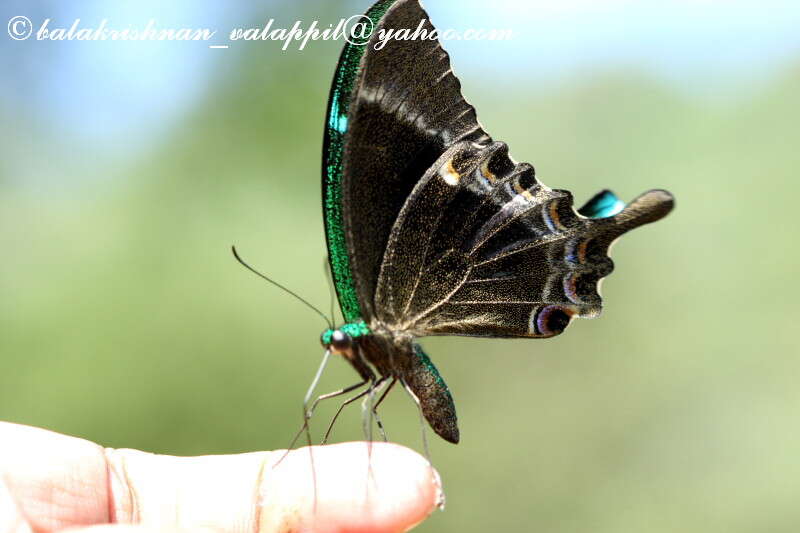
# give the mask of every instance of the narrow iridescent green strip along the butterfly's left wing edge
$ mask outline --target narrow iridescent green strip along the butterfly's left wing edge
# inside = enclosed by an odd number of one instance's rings
[[[367,11],[365,16],[372,21],[373,30],[393,2],[394,0],[379,1]],[[325,235],[328,240],[328,259],[336,294],[339,297],[339,307],[342,309],[345,321],[356,322],[361,318],[362,311],[345,237],[342,178],[350,98],[369,35],[348,38],[352,44],[346,44],[342,50],[328,100],[322,161],[322,202]]]

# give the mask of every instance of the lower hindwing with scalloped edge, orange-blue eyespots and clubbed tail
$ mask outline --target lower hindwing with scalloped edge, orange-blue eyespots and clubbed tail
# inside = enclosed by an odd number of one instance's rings
[[[666,191],[622,205],[604,191],[576,212],[504,143],[457,143],[424,174],[392,228],[377,318],[413,335],[549,337],[600,313],[611,243],[665,216]]]

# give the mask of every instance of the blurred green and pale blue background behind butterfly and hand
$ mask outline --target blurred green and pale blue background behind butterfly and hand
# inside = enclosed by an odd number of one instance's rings
[[[157,16],[222,44],[367,4],[156,6],[10,2],[0,20]],[[560,6],[426,3],[438,27],[515,31],[444,46],[544,183],[579,204],[662,187],[677,208],[615,246],[601,318],[423,341],[462,442],[431,439],[448,505],[419,531],[797,531],[800,10]],[[298,428],[324,325],[229,247],[327,308],[320,149],[342,43],[207,44],[0,37],[0,419],[170,454],[281,448]],[[321,391],[354,381],[329,368]],[[404,395],[382,417],[421,450]],[[362,438],[357,408],[334,435]]]

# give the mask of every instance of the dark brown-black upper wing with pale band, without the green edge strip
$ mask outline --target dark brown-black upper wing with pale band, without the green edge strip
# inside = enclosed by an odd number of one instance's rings
[[[381,30],[414,31],[420,23],[433,31],[416,0],[398,0],[387,9],[364,47],[349,95],[343,230],[366,320],[376,312],[374,294],[389,233],[414,186],[454,143],[490,142],[437,40],[391,40],[375,49]]]

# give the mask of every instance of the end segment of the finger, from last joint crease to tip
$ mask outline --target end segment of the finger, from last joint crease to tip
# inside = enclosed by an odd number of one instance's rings
[[[262,476],[261,531],[407,531],[442,502],[436,471],[403,446],[314,446],[280,462],[275,454]]]

